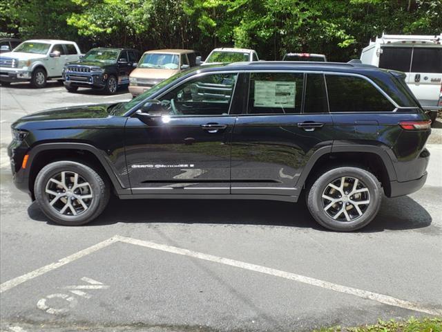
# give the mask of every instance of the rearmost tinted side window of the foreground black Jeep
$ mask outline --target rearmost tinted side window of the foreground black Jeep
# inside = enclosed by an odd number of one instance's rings
[[[325,77],[331,112],[393,111],[395,108],[378,89],[361,77]]]

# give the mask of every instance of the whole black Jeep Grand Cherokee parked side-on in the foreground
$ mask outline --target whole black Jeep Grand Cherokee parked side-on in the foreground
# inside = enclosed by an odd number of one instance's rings
[[[120,199],[271,199],[305,192],[332,230],[367,225],[425,183],[430,120],[403,73],[361,64],[197,67],[131,102],[33,113],[12,124],[19,189],[80,225]]]

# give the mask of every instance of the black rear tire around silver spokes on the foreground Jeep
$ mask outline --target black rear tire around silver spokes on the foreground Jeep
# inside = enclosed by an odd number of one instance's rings
[[[346,178],[344,181],[341,180],[343,177]],[[364,192],[354,194],[357,195],[354,196],[352,195],[352,191],[353,189],[356,189],[353,188],[356,179],[358,180],[357,185],[360,188],[363,188]],[[330,184],[334,183],[344,183],[344,185],[348,186],[348,189],[340,187],[340,189],[342,189],[341,192],[343,192],[341,195],[340,191],[334,190],[334,188],[330,186]],[[350,185],[352,185],[352,187],[349,187]],[[326,190],[330,191],[326,192]],[[333,194],[336,195],[332,197],[336,198],[335,203],[333,203],[334,201],[323,198],[323,195],[331,197],[332,194],[330,193],[332,193],[332,190],[334,190]],[[360,199],[361,196],[365,196],[366,198]],[[369,201],[369,204],[358,205],[359,210],[356,210],[357,204],[352,204],[352,200],[358,202],[356,197],[358,197],[359,202],[365,200]],[[338,167],[331,169],[320,175],[307,192],[307,207],[309,208],[311,216],[313,216],[314,219],[325,228],[339,232],[350,232],[352,230],[363,228],[374,219],[376,214],[378,214],[379,208],[381,207],[381,201],[381,184],[376,176],[367,170],[358,167]],[[331,206],[329,207],[329,205]],[[344,208],[343,205],[348,206],[350,210]],[[326,211],[327,207],[329,207],[329,209]],[[336,213],[333,215],[334,211],[336,211]],[[362,214],[360,214],[361,212]],[[336,214],[338,214],[338,216],[336,216]],[[332,216],[345,220],[335,220]]]

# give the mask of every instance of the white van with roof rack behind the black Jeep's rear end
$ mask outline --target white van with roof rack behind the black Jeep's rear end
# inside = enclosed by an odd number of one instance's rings
[[[423,109],[442,109],[442,33],[435,36],[382,35],[362,50],[361,62],[403,71]]]

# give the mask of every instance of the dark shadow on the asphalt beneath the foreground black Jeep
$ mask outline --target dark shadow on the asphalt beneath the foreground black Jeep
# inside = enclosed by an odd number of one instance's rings
[[[32,203],[31,219],[49,222]],[[86,225],[113,223],[215,223],[225,225],[278,225],[325,230],[310,216],[303,199],[297,204],[277,201],[242,200],[119,200],[111,199],[106,210]],[[378,216],[360,231],[413,230],[428,227],[432,217],[408,196],[384,199]]]

